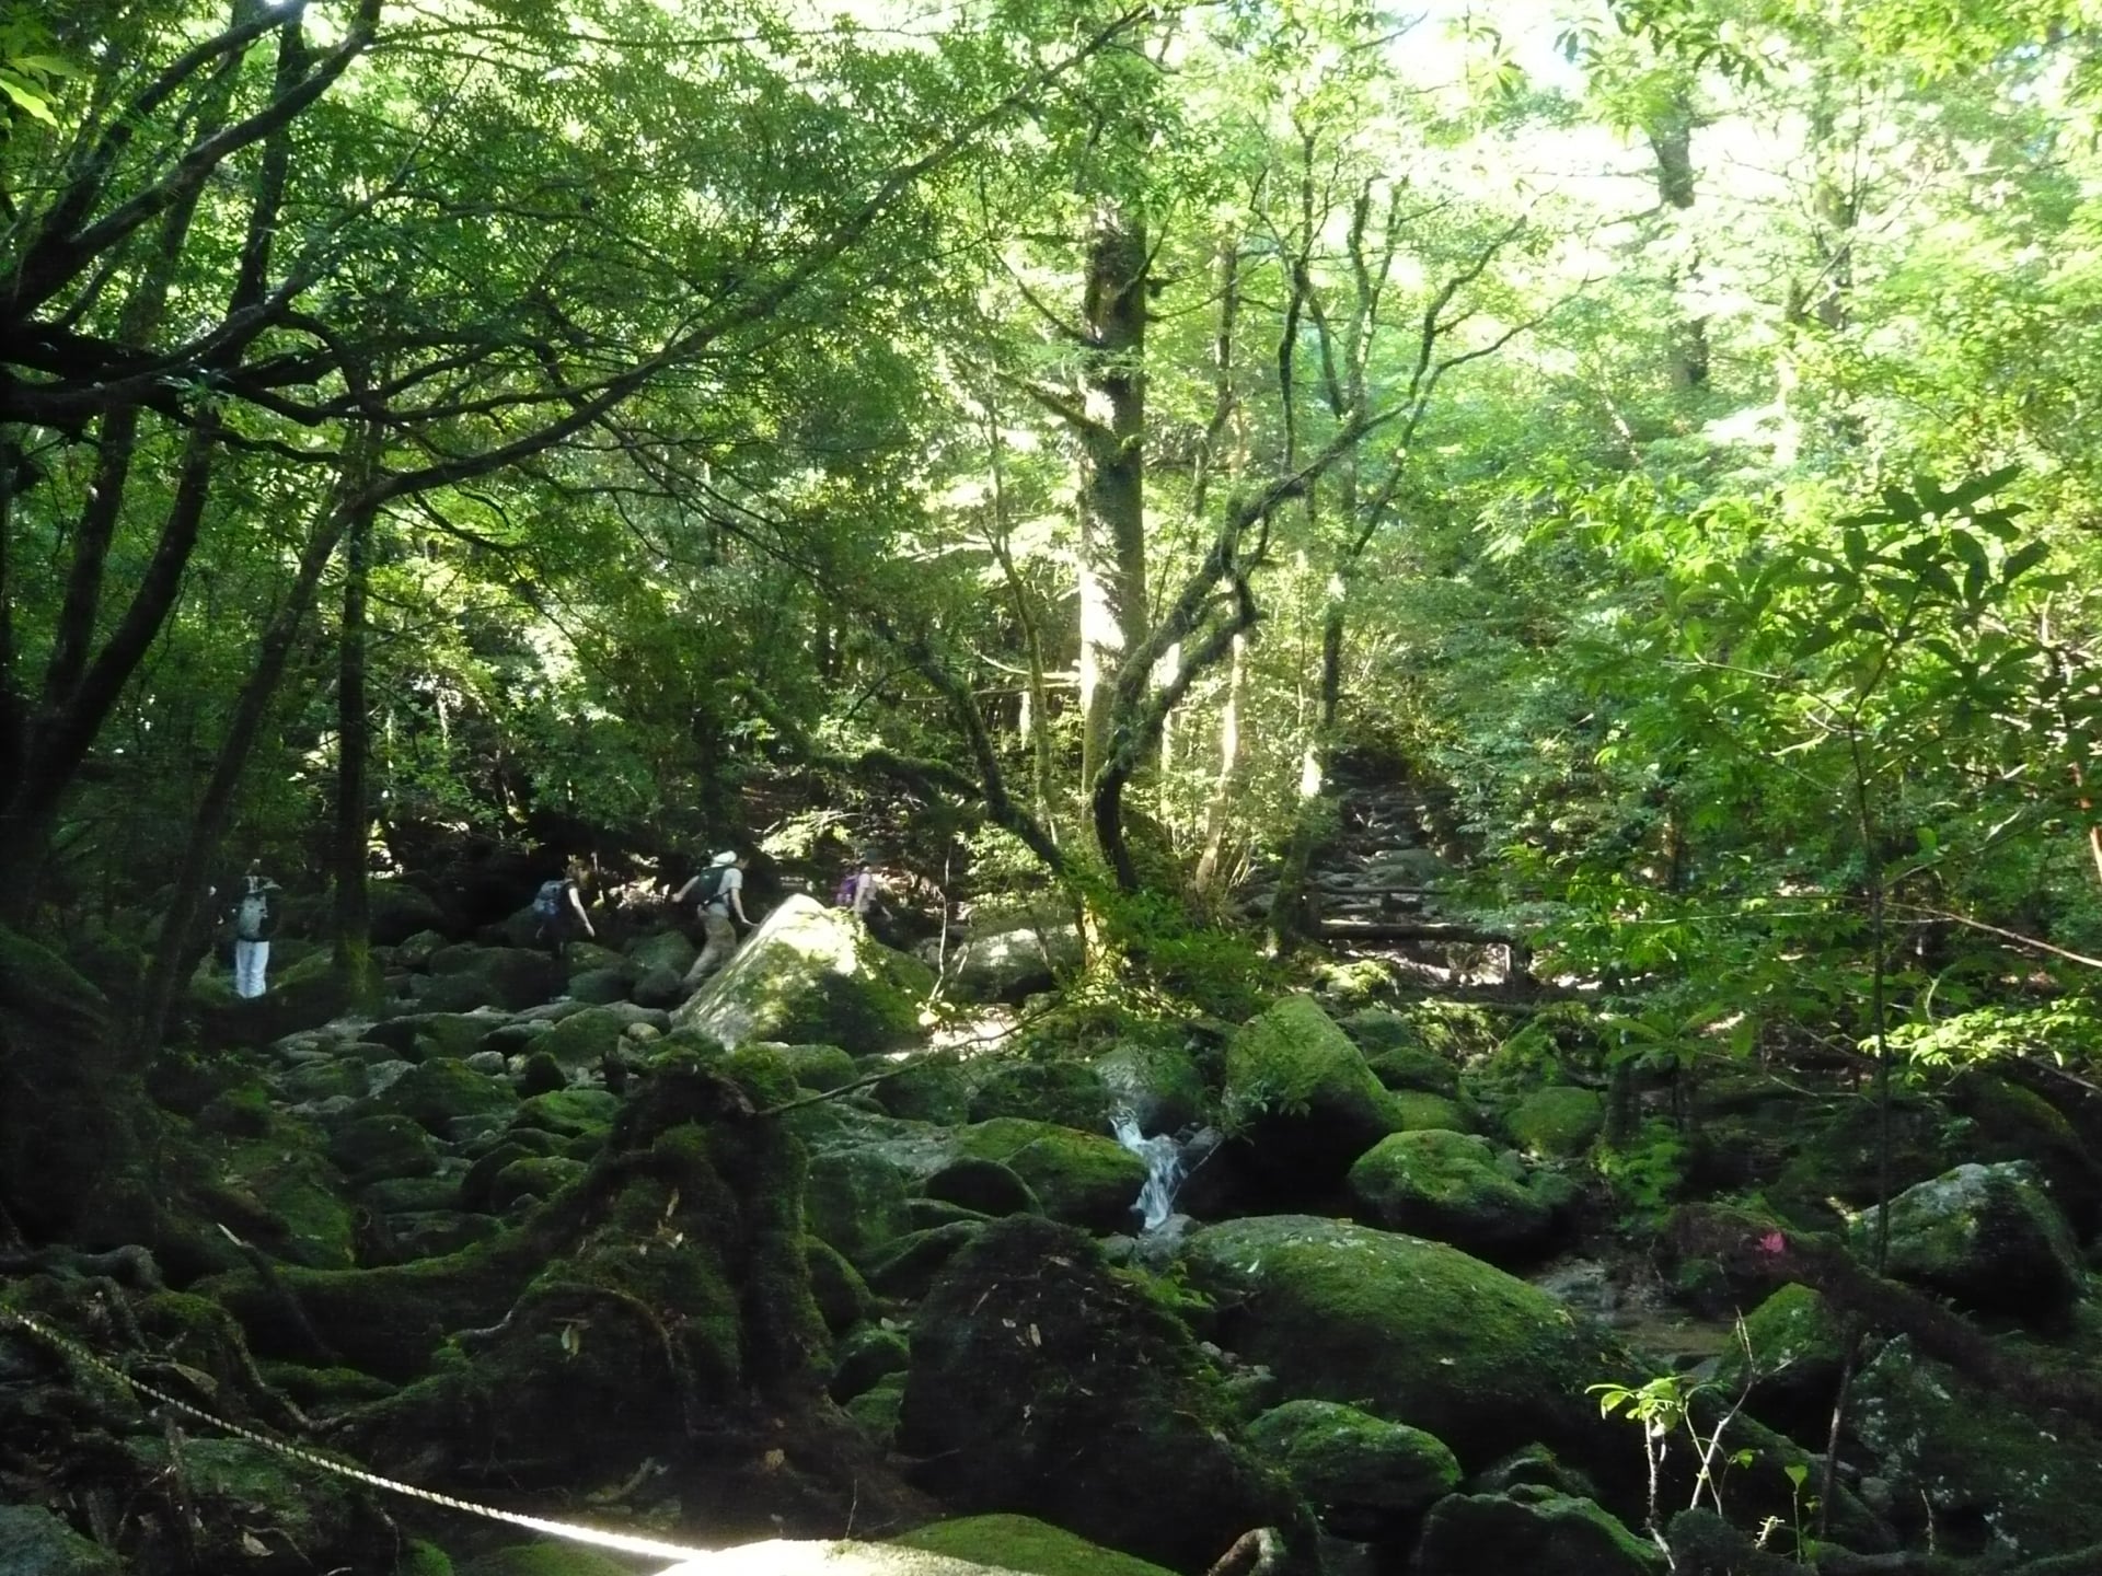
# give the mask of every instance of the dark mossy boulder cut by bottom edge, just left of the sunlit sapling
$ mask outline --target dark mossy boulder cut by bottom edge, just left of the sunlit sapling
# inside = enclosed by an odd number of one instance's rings
[[[1450,1494],[1431,1507],[1415,1576],[1665,1576],[1665,1553],[1591,1500],[1549,1490]]]

